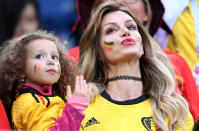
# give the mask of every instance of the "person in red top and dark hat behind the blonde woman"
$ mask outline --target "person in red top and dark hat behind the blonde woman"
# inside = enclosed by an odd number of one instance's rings
[[[80,24],[82,28],[87,26],[91,7],[96,9],[100,4],[110,0],[77,0],[79,19],[78,25],[74,33],[83,32],[79,30]],[[151,36],[157,31],[159,26],[163,23],[162,17],[164,14],[164,7],[159,0],[112,0],[123,7],[128,7],[131,13],[147,27]],[[153,17],[155,16],[155,17]],[[164,27],[164,26],[163,26]],[[84,28],[85,29],[85,28]],[[79,43],[79,42],[78,42]],[[160,43],[161,44],[161,43]],[[77,61],[79,60],[79,47],[72,48],[68,53]],[[199,118],[199,92],[192,75],[192,72],[187,62],[178,54],[164,50],[169,56],[169,60],[174,67],[176,75],[176,92],[180,93],[189,103],[190,112],[195,120]]]

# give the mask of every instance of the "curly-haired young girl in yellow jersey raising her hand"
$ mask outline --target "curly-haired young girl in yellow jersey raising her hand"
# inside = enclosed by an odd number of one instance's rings
[[[45,31],[4,43],[0,53],[0,96],[13,128],[79,130],[91,87],[83,76],[77,76],[73,83],[75,68],[63,49]]]

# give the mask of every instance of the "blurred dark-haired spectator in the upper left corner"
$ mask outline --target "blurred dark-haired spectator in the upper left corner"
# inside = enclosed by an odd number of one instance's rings
[[[40,27],[35,0],[0,0],[0,45]]]

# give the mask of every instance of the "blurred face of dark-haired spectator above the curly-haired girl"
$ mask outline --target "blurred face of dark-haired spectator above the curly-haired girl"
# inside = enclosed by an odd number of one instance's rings
[[[39,21],[36,15],[36,9],[32,3],[25,6],[21,12],[14,35],[20,36],[25,33],[36,31],[39,28]]]

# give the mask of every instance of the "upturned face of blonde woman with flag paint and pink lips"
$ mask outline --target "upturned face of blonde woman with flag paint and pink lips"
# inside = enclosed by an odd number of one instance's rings
[[[100,46],[110,64],[135,59],[143,54],[142,37],[131,16],[115,11],[104,16],[101,23]]]

